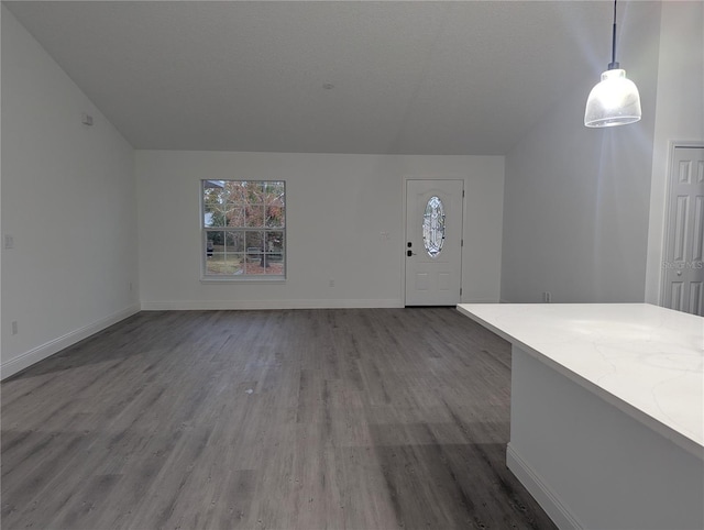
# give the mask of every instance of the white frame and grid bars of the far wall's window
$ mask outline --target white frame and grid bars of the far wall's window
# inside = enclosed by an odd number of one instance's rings
[[[276,183],[278,185],[283,185],[284,187],[284,192],[283,192],[283,210],[284,210],[284,216],[283,216],[283,227],[245,227],[245,225],[234,225],[234,227],[208,227],[206,223],[206,186],[208,184],[212,184],[212,183],[227,183],[227,181],[233,181],[233,183],[251,183],[251,184],[268,184],[268,183]],[[233,179],[233,178],[228,178],[228,179],[201,179],[199,181],[199,194],[200,194],[200,280],[202,283],[256,283],[256,281],[263,281],[263,283],[272,283],[272,281],[284,281],[286,279],[286,270],[287,270],[287,260],[286,260],[286,245],[287,245],[287,241],[286,241],[286,180],[284,179],[268,179],[268,180],[264,180],[264,179]],[[209,232],[239,232],[239,233],[243,233],[245,236],[245,243],[244,243],[244,258],[246,260],[246,255],[249,254],[248,247],[246,247],[246,233],[248,232],[260,232],[260,233],[271,233],[271,232],[280,232],[282,234],[282,247],[280,247],[280,252],[277,253],[267,253],[265,252],[265,256],[266,255],[276,255],[276,254],[280,254],[280,262],[276,262],[276,263],[280,263],[283,266],[283,272],[282,274],[246,274],[246,273],[235,273],[235,274],[213,274],[213,273],[209,273],[208,272],[208,260],[209,257],[212,257],[212,251],[211,249],[209,249],[209,244],[208,244],[208,233]],[[257,254],[261,256],[261,251],[260,254]],[[266,257],[265,257],[266,258]],[[245,264],[245,268],[246,268],[246,264]]]

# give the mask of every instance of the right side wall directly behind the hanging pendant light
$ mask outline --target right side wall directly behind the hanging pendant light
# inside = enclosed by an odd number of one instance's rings
[[[583,84],[508,153],[504,301],[540,302],[543,291],[553,302],[644,300],[660,4],[629,2],[625,11],[617,58],[639,88],[644,118],[583,125],[605,55],[591,73],[585,63]]]

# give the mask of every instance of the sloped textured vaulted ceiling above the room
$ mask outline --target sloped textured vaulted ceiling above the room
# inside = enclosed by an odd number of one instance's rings
[[[505,154],[610,58],[604,1],[3,3],[136,148]]]

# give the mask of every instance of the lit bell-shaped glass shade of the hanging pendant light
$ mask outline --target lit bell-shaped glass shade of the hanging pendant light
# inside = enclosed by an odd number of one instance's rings
[[[586,126],[615,126],[640,120],[640,95],[636,84],[626,79],[626,70],[602,74],[602,80],[590,92],[584,111]]]

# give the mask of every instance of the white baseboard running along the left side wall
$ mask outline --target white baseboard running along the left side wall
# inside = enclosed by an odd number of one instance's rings
[[[84,339],[98,333],[99,331],[102,331],[106,328],[118,323],[139,311],[139,303],[130,306],[122,311],[118,311],[117,313],[97,320],[96,322],[89,323],[88,325],[84,325],[82,328],[79,328],[75,331],[70,331],[65,335],[58,336],[28,352],[21,353],[20,355],[0,364],[0,379],[6,379],[11,375],[14,375],[18,372],[26,368],[28,366],[31,366],[34,363],[38,363],[40,361],[61,352],[65,347],[68,347],[72,344],[76,344],[78,341],[82,341]]]

